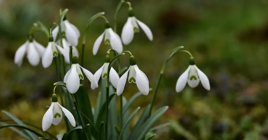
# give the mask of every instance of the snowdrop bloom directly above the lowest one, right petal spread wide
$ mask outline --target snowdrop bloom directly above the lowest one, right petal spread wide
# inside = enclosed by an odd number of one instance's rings
[[[88,80],[91,82],[91,89],[95,89],[98,87],[98,83],[94,78],[94,75],[88,71],[87,69],[81,67],[78,64],[78,58],[76,56],[72,57],[72,65],[71,69],[65,74],[63,82],[66,83],[66,88],[70,93],[76,93],[80,86],[80,79],[84,79],[84,72]]]

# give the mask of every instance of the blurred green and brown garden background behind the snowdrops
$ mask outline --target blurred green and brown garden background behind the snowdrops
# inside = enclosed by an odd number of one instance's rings
[[[37,20],[50,27],[59,18],[59,9],[68,8],[68,20],[84,35],[87,20],[98,12],[113,25],[113,14],[119,0],[0,0],[0,109],[19,119],[41,126],[46,105],[50,105],[55,67],[33,67],[25,58],[21,67],[14,64],[15,51],[27,40],[27,33]],[[130,45],[124,46],[135,56],[139,68],[155,88],[158,74],[169,52],[184,46],[196,65],[210,80],[211,90],[200,84],[176,93],[177,78],[186,70],[189,56],[180,54],[168,63],[158,91],[155,108],[169,105],[157,124],[172,121],[172,127],[157,132],[155,140],[268,140],[268,1],[267,0],[130,0],[135,17],[147,24],[154,35],[149,41],[141,30]],[[118,14],[117,29],[127,20],[125,5]],[[110,46],[102,45],[96,56],[92,48],[104,31],[104,20],[91,24],[85,47],[85,68],[95,73],[104,63]],[[36,40],[47,46],[48,39],[35,31]],[[82,37],[77,46],[81,53]],[[128,57],[121,59],[128,66]],[[92,105],[97,93],[84,80]],[[138,89],[126,84],[124,96],[129,99]],[[141,96],[131,109],[149,104],[153,92]],[[117,98],[119,99],[119,98]],[[118,102],[119,106],[119,102]],[[138,117],[138,116],[136,116]],[[0,113],[0,119],[7,119]],[[131,122],[135,123],[135,118]],[[62,121],[49,132],[64,133]],[[193,138],[194,137],[194,138]],[[0,139],[22,139],[9,128],[0,131]]]

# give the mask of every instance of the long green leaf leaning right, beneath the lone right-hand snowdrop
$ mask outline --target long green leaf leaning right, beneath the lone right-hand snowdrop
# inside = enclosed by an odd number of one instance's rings
[[[155,113],[152,114],[152,116],[149,117],[149,119],[141,126],[141,129],[138,131],[138,133],[135,136],[135,140],[141,140],[144,138],[146,133],[150,130],[152,125],[155,124],[155,122],[167,111],[169,107],[164,106],[162,108],[159,108]]]

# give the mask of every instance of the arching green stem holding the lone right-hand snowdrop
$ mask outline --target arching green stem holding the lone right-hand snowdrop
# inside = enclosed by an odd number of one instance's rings
[[[182,47],[182,48],[183,48],[183,47]],[[190,52],[186,51],[186,50],[176,51],[176,52],[174,52],[174,53],[171,52],[172,55],[170,55],[170,56],[166,59],[165,63],[163,64],[163,66],[162,66],[162,68],[161,68],[161,70],[160,70],[160,73],[159,73],[159,76],[158,76],[158,80],[157,80],[157,84],[156,84],[156,87],[155,87],[155,92],[154,92],[153,99],[152,99],[152,102],[151,102],[151,105],[150,105],[149,116],[151,116],[151,114],[152,114],[152,108],[153,108],[153,106],[154,106],[154,104],[155,104],[156,94],[157,94],[157,91],[158,91],[158,88],[159,88],[159,85],[160,85],[162,76],[163,76],[163,74],[164,74],[164,71],[165,71],[165,68],[166,68],[166,64],[169,62],[169,60],[170,60],[173,56],[175,56],[175,55],[177,55],[177,54],[179,54],[179,53],[181,53],[181,52],[186,52],[186,53],[188,53],[188,55],[190,55],[190,57],[193,57],[193,55],[192,55]]]

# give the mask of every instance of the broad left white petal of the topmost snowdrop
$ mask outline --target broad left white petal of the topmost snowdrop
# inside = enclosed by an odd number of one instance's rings
[[[128,17],[127,22],[125,23],[122,29],[121,39],[125,45],[128,45],[133,40],[133,37],[134,37],[133,25],[131,24],[131,17]]]

